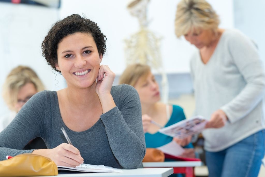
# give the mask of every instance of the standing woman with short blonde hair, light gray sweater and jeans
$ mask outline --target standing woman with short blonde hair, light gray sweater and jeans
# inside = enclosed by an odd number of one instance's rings
[[[221,29],[205,0],[182,0],[175,33],[198,48],[191,58],[196,114],[210,176],[257,176],[264,156],[265,72],[255,44],[240,31]]]

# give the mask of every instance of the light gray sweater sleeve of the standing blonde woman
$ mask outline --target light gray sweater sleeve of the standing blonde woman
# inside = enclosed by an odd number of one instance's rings
[[[230,36],[228,48],[233,63],[246,82],[241,92],[221,109],[231,123],[240,120],[262,100],[265,94],[264,64],[256,46],[241,32]]]

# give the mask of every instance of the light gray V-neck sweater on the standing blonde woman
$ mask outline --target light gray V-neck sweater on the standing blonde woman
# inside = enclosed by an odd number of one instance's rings
[[[253,42],[240,31],[226,29],[204,64],[200,53],[191,59],[195,113],[210,119],[221,109],[228,122],[203,131],[204,148],[217,152],[265,127],[265,72]]]

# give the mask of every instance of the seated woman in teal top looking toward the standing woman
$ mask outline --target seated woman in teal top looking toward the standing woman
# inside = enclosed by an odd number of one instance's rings
[[[177,105],[167,105],[159,102],[158,83],[148,65],[133,64],[121,74],[120,84],[132,85],[138,92],[142,106],[142,121],[147,148],[158,148],[172,140],[185,147],[179,156],[194,158],[191,136],[185,139],[172,138],[158,130],[185,119],[183,109]]]

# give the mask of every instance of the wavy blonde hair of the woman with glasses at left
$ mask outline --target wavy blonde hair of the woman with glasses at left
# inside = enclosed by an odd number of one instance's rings
[[[36,72],[27,66],[18,66],[8,74],[3,84],[2,96],[9,109],[16,111],[17,94],[27,83],[32,83],[37,92],[44,90],[44,85]]]

